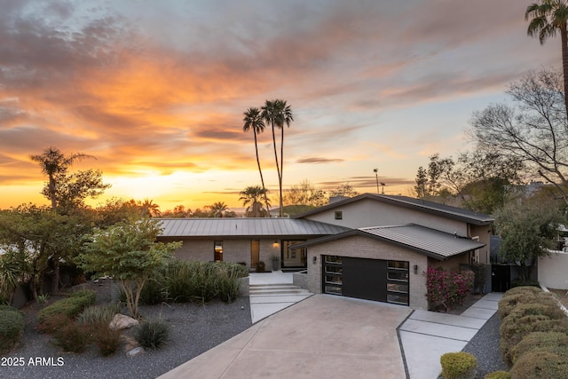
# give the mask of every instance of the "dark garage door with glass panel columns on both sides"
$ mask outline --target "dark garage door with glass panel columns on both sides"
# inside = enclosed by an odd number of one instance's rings
[[[323,292],[408,305],[406,261],[324,256]]]

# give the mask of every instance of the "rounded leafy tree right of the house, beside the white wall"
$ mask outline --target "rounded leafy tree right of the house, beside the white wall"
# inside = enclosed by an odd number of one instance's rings
[[[531,279],[537,258],[548,255],[557,226],[564,222],[556,201],[510,201],[495,212],[494,225],[502,239],[500,255],[517,262],[520,280]]]

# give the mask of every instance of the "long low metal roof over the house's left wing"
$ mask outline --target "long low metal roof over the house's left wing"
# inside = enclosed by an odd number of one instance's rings
[[[160,218],[161,237],[330,235],[349,228],[294,218]]]

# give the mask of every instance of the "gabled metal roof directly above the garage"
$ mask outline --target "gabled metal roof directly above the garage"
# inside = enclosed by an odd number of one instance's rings
[[[341,234],[324,236],[315,240],[306,241],[298,244],[297,247],[315,245],[326,241],[334,241],[351,235],[362,235],[376,238],[381,241],[390,241],[399,246],[413,249],[428,257],[434,257],[439,260],[454,257],[461,253],[480,249],[485,246],[485,243],[483,242],[470,240],[466,237],[440,232],[422,225],[408,224],[351,229],[350,231]]]

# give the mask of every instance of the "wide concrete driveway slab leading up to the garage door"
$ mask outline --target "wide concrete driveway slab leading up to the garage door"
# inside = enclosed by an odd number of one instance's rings
[[[396,329],[410,312],[315,295],[160,377],[404,378]]]

